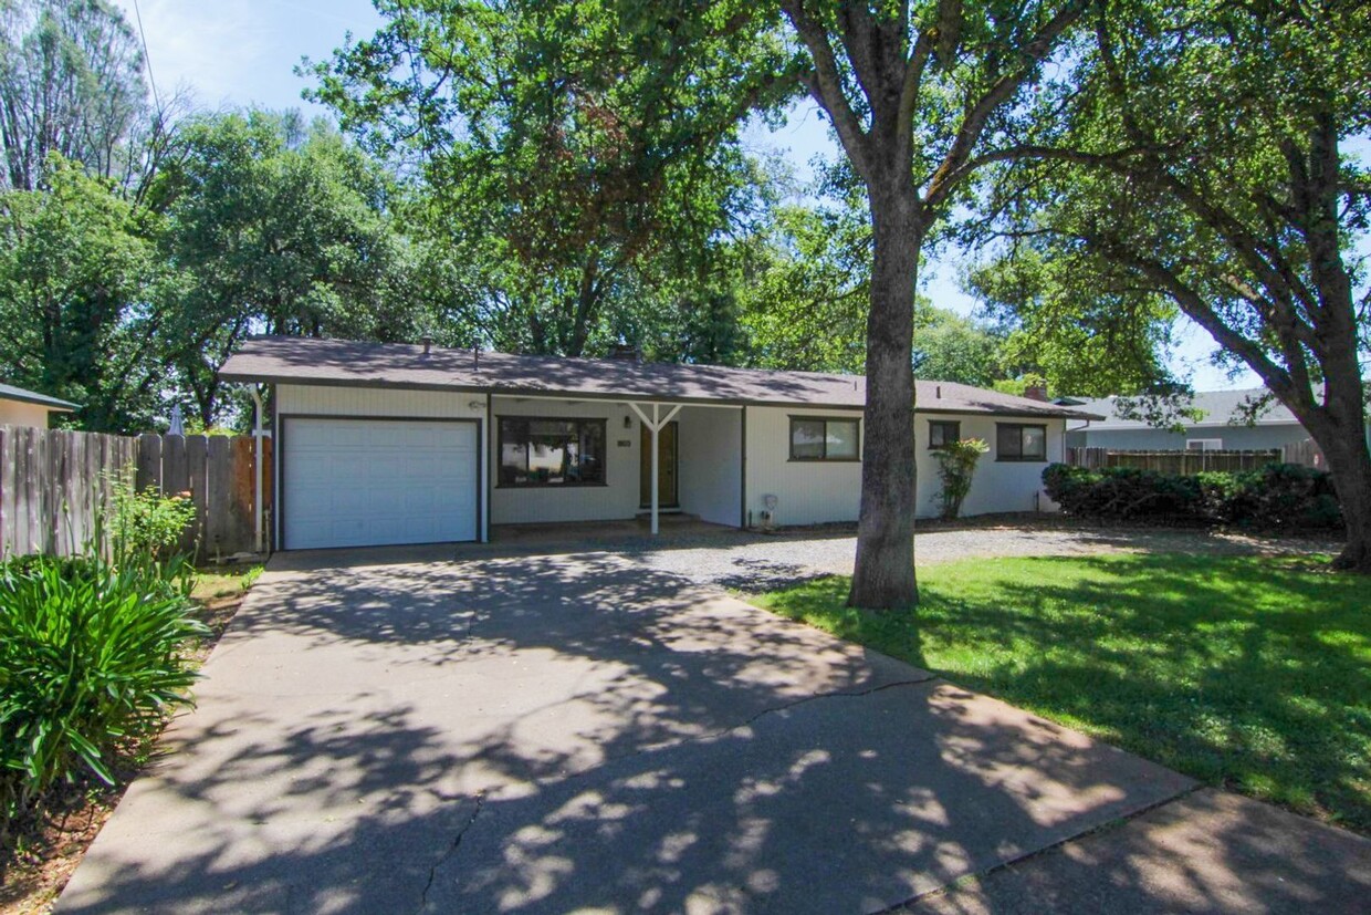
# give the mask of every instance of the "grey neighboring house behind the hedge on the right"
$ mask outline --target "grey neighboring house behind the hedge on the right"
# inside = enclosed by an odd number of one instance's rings
[[[1265,394],[1264,388],[1243,391],[1197,391],[1190,406],[1204,418],[1183,431],[1158,429],[1143,420],[1119,416],[1115,398],[1098,401],[1058,398],[1057,403],[1100,413],[1106,418],[1067,425],[1068,447],[1101,447],[1117,451],[1267,451],[1297,444],[1309,438],[1300,421],[1282,403],[1272,401],[1254,424],[1248,424],[1243,405]]]

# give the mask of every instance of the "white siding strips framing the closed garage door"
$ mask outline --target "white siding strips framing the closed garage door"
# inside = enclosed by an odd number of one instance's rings
[[[474,407],[474,409],[473,409]],[[387,388],[361,388],[325,384],[278,384],[276,387],[276,416],[359,416],[393,418],[433,420],[474,420],[481,436],[489,440],[485,429],[485,395],[462,391],[400,391]],[[284,443],[291,447],[289,442]],[[276,499],[281,505],[281,449],[276,449],[277,461]],[[480,539],[489,539],[491,506],[485,494],[489,491],[488,468],[480,468],[481,476],[481,530]],[[289,498],[289,497],[287,497]],[[281,542],[281,519],[276,519],[277,543]]]

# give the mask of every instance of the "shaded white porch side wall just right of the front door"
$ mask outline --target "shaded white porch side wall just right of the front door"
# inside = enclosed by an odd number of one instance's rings
[[[681,510],[738,527],[742,506],[742,410],[687,406],[677,416]]]

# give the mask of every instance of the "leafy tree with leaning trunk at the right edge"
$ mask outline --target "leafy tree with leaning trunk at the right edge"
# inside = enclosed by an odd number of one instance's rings
[[[1337,565],[1371,572],[1371,176],[1349,152],[1371,128],[1371,8],[1098,4],[1091,25],[1061,130],[998,176],[1006,233],[1169,298],[1254,372],[1327,458]]]

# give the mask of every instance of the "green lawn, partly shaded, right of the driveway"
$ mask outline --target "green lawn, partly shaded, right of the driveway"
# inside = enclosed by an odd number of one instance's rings
[[[1371,834],[1371,579],[1186,554],[920,569],[917,615],[831,578],[761,606],[1211,785]]]

